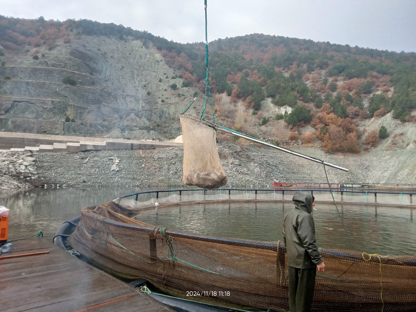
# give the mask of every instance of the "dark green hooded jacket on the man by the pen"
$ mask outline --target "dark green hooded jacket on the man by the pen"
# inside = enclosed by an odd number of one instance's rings
[[[287,250],[287,265],[298,269],[316,267],[322,262],[315,239],[312,218],[312,195],[297,192],[292,199],[295,208],[285,215],[283,240]]]

